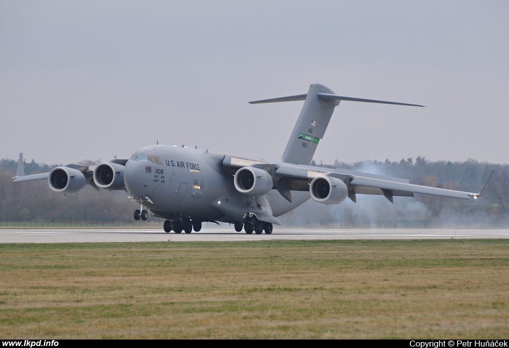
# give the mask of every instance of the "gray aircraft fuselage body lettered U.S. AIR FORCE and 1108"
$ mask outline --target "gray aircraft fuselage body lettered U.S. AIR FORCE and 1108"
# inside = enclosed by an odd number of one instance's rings
[[[146,197],[145,205],[162,218],[188,216],[210,221],[235,222],[214,205],[221,199],[248,205],[251,197],[234,186],[235,170],[222,165],[224,155],[167,145],[136,151],[125,165],[124,182],[134,197]],[[280,216],[309,199],[309,192],[294,192],[292,202],[275,189],[266,195],[273,216]],[[251,199],[252,200],[252,199]]]

